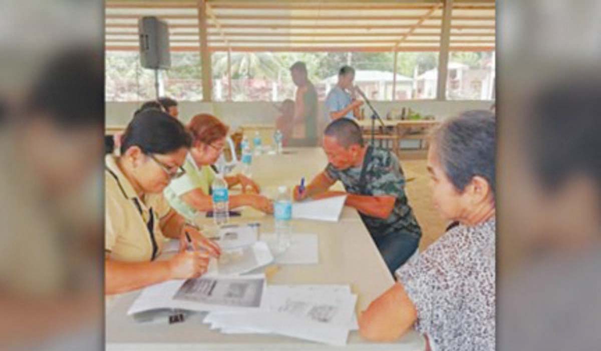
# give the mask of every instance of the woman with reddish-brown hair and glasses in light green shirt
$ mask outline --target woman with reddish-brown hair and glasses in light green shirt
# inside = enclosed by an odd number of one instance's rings
[[[172,207],[188,219],[194,219],[198,212],[213,210],[211,185],[215,172],[210,165],[216,162],[225,147],[228,126],[210,114],[195,115],[188,129],[192,133],[192,148],[186,157],[183,168],[186,173],[171,181],[165,188],[165,198]],[[228,186],[242,186],[242,193],[230,195],[230,208],[251,206],[261,212],[272,213],[273,204],[269,199],[258,195],[259,186],[245,175],[225,176]],[[251,194],[250,192],[254,192]]]

